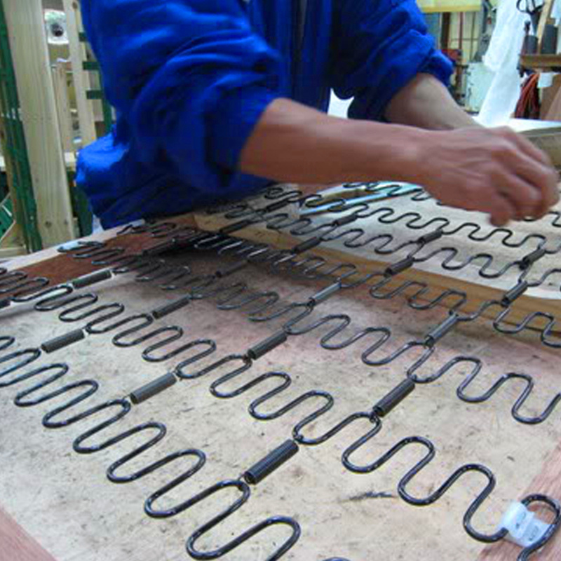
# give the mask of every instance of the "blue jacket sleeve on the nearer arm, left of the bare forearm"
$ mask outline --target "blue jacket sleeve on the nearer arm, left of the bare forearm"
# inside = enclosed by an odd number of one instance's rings
[[[239,0],[83,0],[107,98],[135,158],[217,194],[278,97],[279,58]]]

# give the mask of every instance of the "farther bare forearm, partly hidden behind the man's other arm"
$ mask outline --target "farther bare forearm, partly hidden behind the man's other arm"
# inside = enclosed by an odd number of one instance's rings
[[[417,74],[386,108],[386,119],[432,130],[478,126],[454,101],[445,86],[431,74]]]

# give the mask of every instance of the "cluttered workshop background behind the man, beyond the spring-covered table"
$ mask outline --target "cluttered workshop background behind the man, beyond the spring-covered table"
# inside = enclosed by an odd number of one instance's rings
[[[528,1],[419,0],[454,61],[454,97],[485,124],[512,114],[561,119],[560,3],[547,1],[547,24],[534,29],[524,11],[541,11],[542,3]],[[90,233],[88,204],[74,183],[76,153],[109,130],[113,113],[76,1],[3,0],[0,29],[3,259]],[[345,116],[348,104],[333,96],[331,112]]]

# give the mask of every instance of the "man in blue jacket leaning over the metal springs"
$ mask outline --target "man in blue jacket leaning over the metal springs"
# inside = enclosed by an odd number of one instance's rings
[[[545,154],[452,100],[450,62],[414,0],[81,4],[117,114],[79,161],[104,227],[271,180],[412,182],[497,225],[557,202]],[[354,98],[353,119],[324,113],[331,88]]]

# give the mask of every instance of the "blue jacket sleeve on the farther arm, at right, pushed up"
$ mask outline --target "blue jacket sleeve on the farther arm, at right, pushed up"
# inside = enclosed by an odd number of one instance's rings
[[[415,0],[336,0],[333,83],[354,101],[353,119],[383,119],[386,105],[419,72],[447,84],[452,63],[435,50]]]

